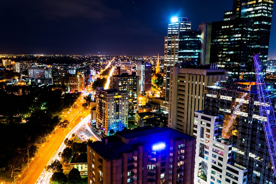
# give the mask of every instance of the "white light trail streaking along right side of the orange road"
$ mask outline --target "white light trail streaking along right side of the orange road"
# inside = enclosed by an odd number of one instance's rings
[[[83,120],[81,120],[64,138],[64,140],[66,138],[70,139],[72,137],[72,133],[76,132],[78,129],[80,129],[81,127],[83,127],[85,125],[85,123],[90,122],[90,118],[91,118],[91,114],[87,115],[85,118],[83,118]],[[96,137],[97,139],[97,137]],[[49,160],[47,165],[51,164],[51,161],[54,160],[60,160],[61,158],[58,156],[59,152],[62,152],[64,149],[66,148],[66,145],[64,144],[64,142],[62,142],[62,144],[60,145],[60,148],[57,150],[57,152],[55,152],[53,154],[53,156],[51,157],[51,159]],[[51,170],[46,170],[43,169],[38,181],[35,183],[41,183],[41,184],[48,184],[50,178],[52,177],[53,173]]]

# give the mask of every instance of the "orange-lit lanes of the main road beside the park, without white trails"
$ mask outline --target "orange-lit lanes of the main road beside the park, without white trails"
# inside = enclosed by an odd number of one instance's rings
[[[81,118],[85,119],[85,117],[90,117],[87,116],[90,115],[89,108],[84,109],[82,107],[83,102],[83,96],[81,96],[75,104],[77,105],[75,109],[72,108],[70,109],[71,111],[69,110],[62,114],[61,118],[64,120],[67,119],[70,122],[69,128],[65,130],[65,134],[68,134],[68,132],[72,131],[72,129],[80,122]],[[82,126],[84,126],[84,124]],[[43,172],[44,167],[48,164],[48,162],[53,160],[55,154],[58,154],[58,150],[60,149],[60,146],[62,145],[65,138],[66,136],[64,135],[64,131],[62,129],[56,129],[55,134],[52,134],[51,137],[48,137],[48,142],[40,146],[38,155],[34,158],[34,160],[31,160],[29,165],[30,171],[28,171],[28,168],[26,168],[24,173],[22,173],[21,177],[18,179],[19,182],[17,181],[16,183],[36,183],[41,173]]]

